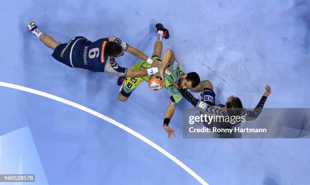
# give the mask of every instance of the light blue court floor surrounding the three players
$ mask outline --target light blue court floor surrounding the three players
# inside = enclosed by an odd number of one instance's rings
[[[57,62],[27,31],[29,21],[62,43],[115,35],[147,55],[154,25],[162,22],[170,30],[164,49],[174,51],[185,72],[213,83],[217,103],[234,94],[255,107],[268,84],[264,107],[306,108],[309,1],[2,1],[0,174],[35,174],[36,181],[0,184],[310,184],[309,139],[184,139],[182,110],[191,105],[181,100],[170,123],[176,137],[168,140],[162,123],[168,91],[144,83],[118,101],[118,77]],[[140,59],[126,53],[117,61],[131,67]]]

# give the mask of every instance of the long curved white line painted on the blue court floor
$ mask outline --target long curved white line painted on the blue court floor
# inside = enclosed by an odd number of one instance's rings
[[[15,85],[15,84],[10,84],[10,83],[6,83],[6,82],[0,82],[0,86],[3,87],[8,87],[8,88],[12,88],[12,89],[17,89],[17,90],[21,90],[21,91],[25,91],[28,93],[32,93],[32,94],[36,94],[39,96],[44,96],[62,103],[65,103],[67,105],[73,106],[75,108],[78,108],[80,110],[83,110],[91,115],[94,115],[98,118],[101,118],[102,120],[105,120],[123,130],[125,130],[126,132],[129,132],[130,134],[138,137],[139,139],[141,139],[142,141],[146,142],[148,145],[152,146],[154,149],[158,150],[160,153],[164,154],[165,156],[167,156],[169,159],[171,159],[173,162],[175,162],[177,165],[179,165],[181,168],[183,168],[187,173],[189,173],[191,176],[193,176],[194,178],[196,178],[201,184],[204,185],[208,185],[208,183],[202,179],[198,174],[196,174],[194,171],[192,171],[190,168],[188,168],[184,163],[182,163],[180,160],[178,160],[176,157],[174,157],[173,155],[171,155],[169,152],[165,151],[161,146],[157,145],[156,143],[154,143],[153,141],[149,140],[148,138],[144,137],[143,135],[139,134],[138,132],[126,127],[125,125],[109,118],[106,117],[98,112],[96,112],[95,110],[92,110],[90,108],[87,108],[83,105],[80,105],[78,103],[74,103],[72,101],[66,100],[64,98],[46,93],[46,92],[42,92],[42,91],[38,91],[35,89],[30,89],[28,87],[23,87],[23,86],[19,86],[19,85]]]

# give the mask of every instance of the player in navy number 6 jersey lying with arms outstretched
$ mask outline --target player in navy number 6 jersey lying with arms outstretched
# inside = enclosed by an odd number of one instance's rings
[[[42,33],[34,22],[27,26],[28,30],[37,36],[47,47],[54,50],[52,56],[57,61],[72,67],[88,69],[95,72],[108,72],[119,77],[139,78],[152,76],[159,71],[161,62],[152,60],[140,50],[128,45],[115,36],[89,41],[83,36],[75,36],[68,43],[59,43],[50,35]],[[130,68],[120,66],[116,57],[124,55],[124,51],[151,64],[151,68],[132,71]]]

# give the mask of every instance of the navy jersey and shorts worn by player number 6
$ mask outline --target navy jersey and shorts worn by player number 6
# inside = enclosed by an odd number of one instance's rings
[[[127,50],[128,44],[115,36],[102,38],[91,42],[82,36],[76,36],[67,44],[59,45],[53,53],[53,57],[73,68],[83,68],[96,72],[109,72],[117,76],[125,76],[127,68],[121,67],[114,57],[108,56],[105,46],[108,42],[119,43],[123,50]]]

